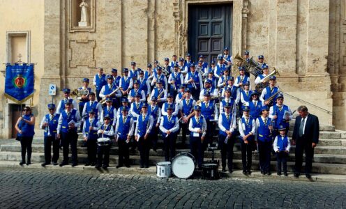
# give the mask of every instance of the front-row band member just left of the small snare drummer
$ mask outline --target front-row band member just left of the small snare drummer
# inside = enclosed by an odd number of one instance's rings
[[[83,125],[83,137],[84,141],[87,142],[88,160],[85,166],[91,165],[92,167],[96,164],[96,151],[97,151],[97,139],[98,139],[98,127],[100,123],[95,117],[96,109],[89,111],[89,118],[85,120]]]

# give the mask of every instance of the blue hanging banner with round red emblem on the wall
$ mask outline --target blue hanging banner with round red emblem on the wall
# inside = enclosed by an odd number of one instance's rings
[[[17,104],[33,97],[34,64],[7,64],[5,79],[5,96]]]

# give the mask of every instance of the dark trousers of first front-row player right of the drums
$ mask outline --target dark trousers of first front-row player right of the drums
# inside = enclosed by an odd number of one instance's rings
[[[228,169],[233,169],[233,147],[235,143],[235,137],[230,137],[227,144],[225,144],[226,136],[219,134],[218,135],[218,144],[221,150],[221,165],[223,169],[226,167],[226,156],[227,156],[227,166]]]

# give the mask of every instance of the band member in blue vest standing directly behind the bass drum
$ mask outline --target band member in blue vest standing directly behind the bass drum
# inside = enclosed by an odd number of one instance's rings
[[[204,158],[204,147],[202,146],[206,136],[206,120],[201,115],[201,107],[195,105],[193,107],[195,116],[193,116],[188,124],[190,130],[190,151],[193,157],[197,159],[198,169],[202,169]]]

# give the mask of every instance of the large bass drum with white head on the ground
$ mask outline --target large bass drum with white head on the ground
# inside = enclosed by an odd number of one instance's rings
[[[191,153],[179,153],[172,159],[172,172],[178,178],[190,178],[193,176],[195,167],[195,157]]]

